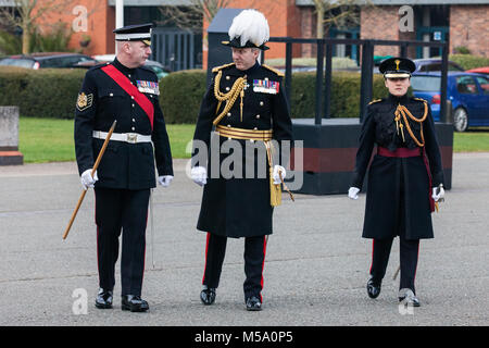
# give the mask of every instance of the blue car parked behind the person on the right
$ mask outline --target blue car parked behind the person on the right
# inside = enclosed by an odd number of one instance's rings
[[[411,87],[414,97],[426,99],[435,121],[440,121],[440,72],[414,73]],[[449,72],[447,98],[453,108],[456,132],[489,126],[489,77],[482,74]]]

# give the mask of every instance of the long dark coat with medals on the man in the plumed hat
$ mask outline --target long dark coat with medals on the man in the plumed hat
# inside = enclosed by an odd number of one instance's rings
[[[197,228],[235,238],[269,235],[273,232],[273,207],[269,202],[269,173],[264,142],[233,139],[234,146],[230,147],[234,147],[234,150],[226,153],[228,150],[223,149],[226,148],[225,142],[229,140],[228,138],[214,133],[211,141],[212,122],[225,108],[225,102],[220,104],[214,95],[215,76],[218,71],[222,71],[218,89],[223,94],[233,88],[237,78],[247,76],[242,113],[241,101],[238,98],[218,125],[241,129],[273,129],[273,139],[278,144],[275,151],[278,152],[281,152],[283,140],[292,140],[292,125],[281,74],[259,63],[247,71],[238,70],[234,63],[214,69],[212,83],[201,103],[193,136],[193,140],[201,140],[208,149],[208,163],[199,164],[208,167],[208,183],[203,189]],[[275,91],[268,89],[266,92],[263,88],[254,88],[265,84],[265,80],[268,86],[276,88]],[[211,142],[212,146],[217,145],[221,150],[212,148]],[[255,146],[256,150],[247,152],[247,145]],[[226,162],[231,161],[229,156],[238,154],[240,151],[241,160],[230,164]],[[288,154],[285,156],[287,157]],[[195,161],[196,151],[192,158],[193,163],[198,164]],[[281,159],[283,162],[286,161],[285,158]],[[266,166],[261,165],[263,163]],[[280,164],[280,158],[278,157],[273,164]],[[285,165],[285,162],[283,164]],[[223,172],[225,167],[233,171],[230,177]],[[250,167],[253,169],[250,170],[252,174],[247,173],[247,169]],[[266,170],[260,172],[260,167]]]

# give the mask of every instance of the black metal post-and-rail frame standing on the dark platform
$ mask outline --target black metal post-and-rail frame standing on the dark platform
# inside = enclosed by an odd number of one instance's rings
[[[331,97],[331,61],[333,47],[335,45],[358,45],[362,47],[361,58],[361,89],[360,89],[360,122],[363,121],[366,107],[372,100],[373,74],[374,74],[374,48],[375,46],[398,46],[400,55],[406,57],[410,46],[429,46],[441,48],[441,90],[440,90],[440,122],[447,122],[447,72],[448,72],[448,42],[425,41],[390,41],[390,40],[363,40],[363,39],[303,39],[291,37],[272,37],[269,42],[284,42],[286,45],[285,90],[290,98],[292,86],[292,44],[316,45],[316,105],[315,124],[321,124],[322,119],[330,117]],[[264,52],[263,52],[264,53]],[[262,53],[262,62],[264,54]],[[326,59],[325,59],[326,54]],[[325,61],[325,63],[324,63]],[[324,100],[324,102],[323,102]]]

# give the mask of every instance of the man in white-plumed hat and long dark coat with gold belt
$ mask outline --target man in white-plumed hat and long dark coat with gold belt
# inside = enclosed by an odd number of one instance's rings
[[[254,34],[251,28],[255,29]],[[234,18],[228,34],[230,41],[223,44],[231,47],[234,63],[213,69],[213,79],[202,101],[193,136],[195,146],[200,140],[210,149],[208,163],[205,160],[198,163],[192,157],[191,170],[192,179],[205,185],[197,225],[208,233],[200,298],[204,304],[215,300],[227,237],[244,237],[244,302],[247,310],[259,311],[263,302],[266,241],[272,234],[275,196],[271,189],[280,183],[280,175],[286,176],[278,162],[275,165],[269,159],[267,162],[268,146],[275,142],[278,145],[275,150],[281,152],[283,140],[292,139],[292,129],[281,88],[283,74],[258,63],[261,50],[267,49],[264,46],[268,40],[266,18],[258,11],[244,10]],[[213,125],[217,135],[211,141]],[[234,154],[242,154],[234,163],[231,176],[221,171],[226,156],[220,149],[228,144],[234,144],[229,145]],[[216,151],[214,146],[218,147]],[[247,152],[246,148],[253,146],[256,151]],[[287,159],[281,163],[285,161]],[[217,162],[218,167],[214,167],[213,162]],[[266,165],[261,176],[256,171],[260,163]],[[250,167],[254,170],[249,171]]]

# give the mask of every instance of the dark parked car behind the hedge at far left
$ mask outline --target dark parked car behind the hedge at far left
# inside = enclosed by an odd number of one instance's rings
[[[83,62],[97,63],[93,58],[79,53],[41,52],[5,57],[0,60],[0,65],[37,70],[45,67],[76,67],[77,64]]]

